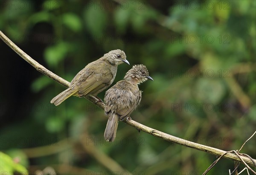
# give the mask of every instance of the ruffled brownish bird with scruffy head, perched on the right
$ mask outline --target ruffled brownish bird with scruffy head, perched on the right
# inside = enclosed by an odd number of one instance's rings
[[[117,82],[105,93],[105,115],[108,115],[104,133],[106,141],[115,140],[119,120],[128,119],[139,105],[141,91],[138,84],[147,79],[153,80],[146,66],[135,65],[126,73],[124,80]]]

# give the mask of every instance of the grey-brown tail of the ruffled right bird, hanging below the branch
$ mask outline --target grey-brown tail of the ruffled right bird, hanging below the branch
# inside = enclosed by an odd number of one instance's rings
[[[117,114],[110,113],[108,117],[108,123],[104,132],[104,138],[106,141],[113,142],[115,140],[118,121],[119,116]]]

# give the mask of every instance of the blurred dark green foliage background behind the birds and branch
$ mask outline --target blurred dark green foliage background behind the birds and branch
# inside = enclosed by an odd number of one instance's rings
[[[131,117],[146,126],[227,151],[239,149],[256,130],[254,0],[0,3],[1,31],[68,81],[113,49],[124,50],[131,65],[145,64],[154,81],[140,85],[141,105]],[[30,174],[48,166],[58,174],[105,174],[116,164],[136,175],[202,174],[215,161],[122,122],[116,142],[105,142],[101,109],[76,97],[53,106],[49,101],[65,88],[14,59],[15,52],[3,54],[1,75],[8,76],[1,77],[1,151],[25,152]],[[15,64],[17,72],[10,72]],[[130,68],[120,65],[114,83]],[[255,145],[254,136],[241,152],[255,158]],[[228,169],[233,162],[223,159],[211,173]]]

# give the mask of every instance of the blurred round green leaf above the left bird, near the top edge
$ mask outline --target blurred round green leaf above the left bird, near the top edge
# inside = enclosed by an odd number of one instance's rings
[[[62,16],[62,23],[74,32],[79,32],[82,29],[79,16],[74,13],[66,13]]]

